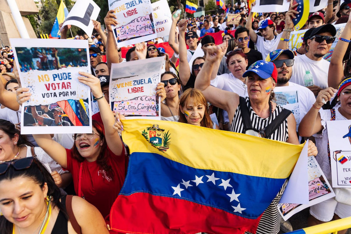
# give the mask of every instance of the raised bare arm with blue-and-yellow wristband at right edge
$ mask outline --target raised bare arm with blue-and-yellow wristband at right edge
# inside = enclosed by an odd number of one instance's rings
[[[340,38],[350,40],[351,38],[351,14],[349,15],[349,20],[345,25],[344,31]],[[331,55],[329,72],[328,72],[328,86],[333,88],[338,88],[339,84],[344,78],[344,67],[343,58],[346,53],[349,42],[338,40],[334,51]]]

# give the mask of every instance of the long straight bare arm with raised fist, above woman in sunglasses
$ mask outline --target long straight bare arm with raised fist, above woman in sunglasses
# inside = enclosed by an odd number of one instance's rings
[[[172,16],[173,17],[173,16]],[[185,43],[185,30],[187,20],[180,20],[178,23],[179,29],[179,78],[184,85],[190,78],[190,67],[187,59],[186,43]]]

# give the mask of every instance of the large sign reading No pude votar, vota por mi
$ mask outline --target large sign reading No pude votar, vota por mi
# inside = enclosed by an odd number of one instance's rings
[[[21,134],[91,133],[90,88],[78,72],[90,73],[87,41],[11,39],[22,87]]]

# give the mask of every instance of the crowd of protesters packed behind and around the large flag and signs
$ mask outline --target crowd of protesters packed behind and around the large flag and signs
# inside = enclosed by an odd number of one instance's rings
[[[291,4],[287,12],[263,14],[249,12],[254,5],[240,0],[226,6],[227,13],[240,14],[237,24],[228,22],[226,13],[188,19],[173,13],[168,36],[135,44],[125,58],[115,43],[112,26],[117,25],[117,19],[113,10],[106,14],[105,30],[101,22],[93,21],[93,35],[74,38],[87,40],[89,45],[91,74],[80,72],[78,78],[96,97],[93,109],[98,111],[92,116],[93,131],[88,134],[21,135],[20,105],[31,94],[20,85],[11,47],[2,48],[0,232],[41,233],[39,227],[46,223],[52,232],[45,233],[78,233],[77,225],[84,234],[108,233],[103,217],[110,213],[128,165],[120,135],[124,116],[112,112],[109,105],[112,63],[164,56],[161,82],[156,87],[162,101],[161,120],[295,145],[310,139],[308,155],[316,156],[326,179],[331,180],[326,121],[351,119],[351,8],[327,0],[326,8],[310,13],[302,27],[309,30],[300,47],[291,51],[288,42],[294,31],[293,20],[299,14],[298,5]],[[346,25],[329,62],[323,56],[336,39],[335,25],[341,23]],[[66,39],[67,30],[67,26],[62,29],[61,39]],[[213,33],[221,33],[220,43],[216,43]],[[168,42],[172,54],[157,45],[162,42]],[[199,43],[203,55],[193,58]],[[45,63],[38,60],[33,68],[40,66]],[[313,76],[309,84],[304,79],[307,71]],[[277,103],[274,92],[288,88],[298,92],[299,117]],[[59,108],[41,106],[34,113],[36,119],[55,119],[62,125],[64,121],[57,116],[61,118],[64,112]],[[211,114],[217,120],[211,119]],[[270,127],[272,122],[277,124],[274,129]],[[33,125],[38,125],[38,120],[33,119]],[[261,216],[257,234],[292,231],[277,208],[286,183]],[[67,193],[85,200],[62,196]],[[52,210],[50,222],[43,220],[48,210]],[[310,208],[308,224],[349,216],[351,201],[346,204],[332,198]],[[338,233],[345,234],[346,230]]]

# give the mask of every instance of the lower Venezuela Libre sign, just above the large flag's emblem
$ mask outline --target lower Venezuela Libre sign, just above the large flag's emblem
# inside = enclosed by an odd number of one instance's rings
[[[156,87],[161,80],[164,57],[113,63],[110,75],[110,104],[113,111],[130,119],[160,120],[160,98]]]

